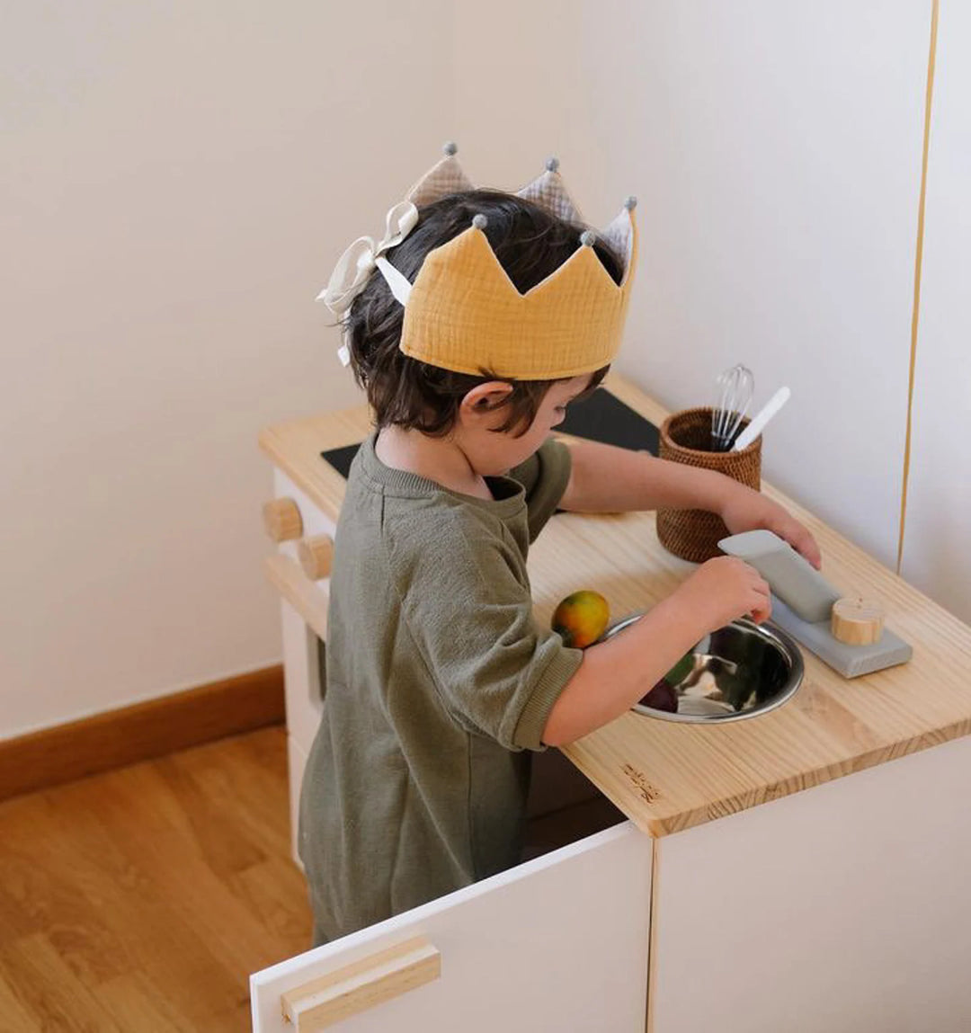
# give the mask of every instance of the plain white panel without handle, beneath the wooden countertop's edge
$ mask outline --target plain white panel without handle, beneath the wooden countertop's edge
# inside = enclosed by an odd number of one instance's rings
[[[659,840],[654,1033],[971,1030],[969,781],[965,737]]]

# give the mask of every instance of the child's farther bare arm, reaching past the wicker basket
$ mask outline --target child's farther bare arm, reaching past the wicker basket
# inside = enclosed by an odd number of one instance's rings
[[[718,513],[730,534],[765,528],[788,541],[814,567],[821,565],[819,546],[806,527],[783,506],[731,477],[597,441],[570,441],[568,446],[572,462],[560,500],[563,509],[706,509]]]

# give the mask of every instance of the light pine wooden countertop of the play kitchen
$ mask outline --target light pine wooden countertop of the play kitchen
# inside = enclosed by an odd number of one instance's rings
[[[666,411],[617,374],[606,386],[660,425]],[[335,519],[344,479],[320,451],[364,439],[366,406],[270,427],[262,450]],[[778,710],[721,727],[633,712],[563,752],[640,828],[663,836],[872,768],[971,731],[971,628],[781,492],[816,536],[827,580],[881,600],[886,625],[913,646],[909,663],[846,681],[803,649],[806,677]],[[613,619],[650,608],[694,564],[660,545],[653,512],[561,513],[530,550],[537,620],[580,588],[601,592]],[[901,815],[906,820],[906,815]]]

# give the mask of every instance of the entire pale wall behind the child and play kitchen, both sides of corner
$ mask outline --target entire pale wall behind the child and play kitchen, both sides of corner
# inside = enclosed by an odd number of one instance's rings
[[[957,6],[941,20],[904,573],[971,616],[953,559],[965,430],[937,415],[968,412]],[[670,407],[708,403],[739,361],[757,401],[789,383],[766,478],[892,564],[930,13],[15,5],[0,37],[0,737],[279,658],[256,433],[355,401],[311,299],[448,136],[496,186],[558,153],[593,222],[637,193],[619,368]]]

